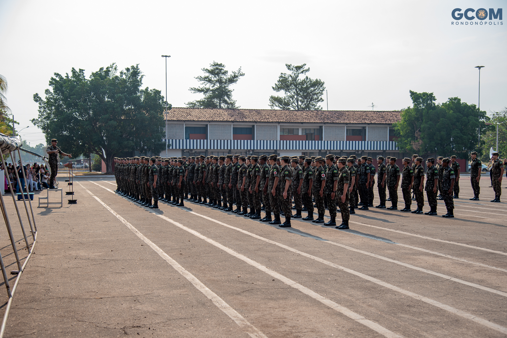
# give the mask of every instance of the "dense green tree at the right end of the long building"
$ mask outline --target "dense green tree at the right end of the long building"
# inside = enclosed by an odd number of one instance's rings
[[[433,93],[410,91],[410,98],[413,106],[404,109],[400,122],[394,123],[401,150],[424,158],[430,154],[468,158],[470,151],[478,150],[478,128],[485,128],[486,112],[457,97],[436,104]]]

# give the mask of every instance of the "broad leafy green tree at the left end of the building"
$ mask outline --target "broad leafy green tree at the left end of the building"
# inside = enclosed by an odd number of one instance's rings
[[[72,68],[65,76],[55,73],[45,91],[33,100],[39,117],[32,122],[58,139],[66,153],[96,154],[112,173],[113,158],[124,151],[158,153],[164,143],[164,98],[159,90],[141,89],[138,65],[118,73],[111,64],[93,72]]]

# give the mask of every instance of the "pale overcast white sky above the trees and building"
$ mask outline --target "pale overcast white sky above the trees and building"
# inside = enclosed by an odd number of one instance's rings
[[[233,87],[241,108],[268,109],[285,63],[310,67],[325,82],[329,109],[401,109],[409,90],[459,97],[498,111],[507,106],[507,6],[504,1],[5,1],[0,0],[0,74],[26,142],[45,143],[30,119],[34,93],[53,73],[86,73],[113,62],[138,63],[143,85],[173,107],[213,61],[245,76]],[[503,25],[453,26],[454,8],[504,9]],[[462,21],[465,21],[462,19]],[[477,19],[474,21],[478,21]],[[489,20],[484,20],[489,21]],[[498,20],[492,20],[498,23]],[[325,97],[324,97],[325,99]],[[326,102],[322,103],[326,109]]]

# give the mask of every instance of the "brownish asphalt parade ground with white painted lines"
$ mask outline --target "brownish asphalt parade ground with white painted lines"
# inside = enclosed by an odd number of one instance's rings
[[[468,200],[469,180],[453,219],[443,201],[439,216],[370,207],[338,230],[188,201],[149,209],[114,177],[75,178],[77,204],[34,203],[37,246],[5,336],[505,337],[507,203],[489,202],[489,177]]]

